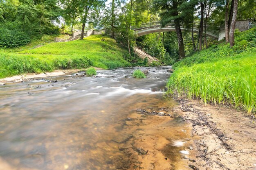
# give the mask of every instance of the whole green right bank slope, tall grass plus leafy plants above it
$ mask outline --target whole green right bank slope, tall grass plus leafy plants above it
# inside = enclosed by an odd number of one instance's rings
[[[228,102],[256,110],[256,28],[236,33],[236,45],[222,42],[175,63],[167,94],[177,92],[204,103]]]

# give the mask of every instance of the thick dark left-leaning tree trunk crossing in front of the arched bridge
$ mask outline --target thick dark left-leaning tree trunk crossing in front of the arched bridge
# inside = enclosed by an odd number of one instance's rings
[[[178,16],[178,10],[177,10],[177,0],[173,0],[173,16]],[[185,50],[184,50],[184,44],[183,44],[183,37],[182,37],[182,32],[180,29],[180,20],[175,19],[174,20],[174,25],[175,25],[175,31],[177,34],[178,38],[178,45],[179,45],[179,56],[180,59],[183,59],[185,57]]]

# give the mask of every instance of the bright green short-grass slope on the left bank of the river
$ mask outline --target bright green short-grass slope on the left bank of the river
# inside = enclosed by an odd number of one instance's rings
[[[101,41],[104,38],[105,41]],[[47,43],[29,49],[34,44],[18,49],[0,50],[0,78],[25,72],[43,72],[56,69],[87,68],[92,65],[103,69],[130,66],[124,60],[127,50],[115,40],[93,35],[84,40]],[[27,49],[26,49],[27,48]]]

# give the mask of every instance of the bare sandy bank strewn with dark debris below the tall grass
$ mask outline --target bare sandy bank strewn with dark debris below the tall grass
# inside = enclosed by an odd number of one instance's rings
[[[179,100],[173,112],[193,126],[191,136],[198,155],[199,170],[256,170],[255,118],[227,106],[203,105]]]

